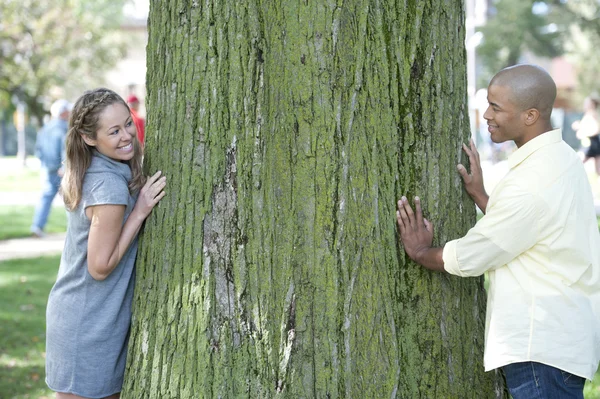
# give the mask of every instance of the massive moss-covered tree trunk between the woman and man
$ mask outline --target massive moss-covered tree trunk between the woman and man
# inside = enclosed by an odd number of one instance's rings
[[[145,169],[168,194],[137,262],[124,398],[493,398],[482,278],[398,244],[475,207],[462,0],[152,1]]]

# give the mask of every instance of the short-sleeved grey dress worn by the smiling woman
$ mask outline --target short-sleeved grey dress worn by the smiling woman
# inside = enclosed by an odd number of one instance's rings
[[[54,391],[87,398],[121,391],[137,238],[105,280],[94,280],[87,267],[90,221],[85,209],[126,205],[124,223],[136,200],[129,194],[130,179],[127,164],[95,152],[85,174],[81,202],[68,213],[58,278],[46,309],[46,383]]]

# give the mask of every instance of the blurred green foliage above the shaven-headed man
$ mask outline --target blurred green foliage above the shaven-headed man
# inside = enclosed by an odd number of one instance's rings
[[[495,0],[489,14],[477,48],[480,85],[499,69],[522,62],[525,53],[533,53],[568,58],[578,79],[573,100],[600,92],[599,0]]]

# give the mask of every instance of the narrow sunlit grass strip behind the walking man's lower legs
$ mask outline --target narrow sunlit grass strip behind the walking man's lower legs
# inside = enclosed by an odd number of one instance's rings
[[[34,210],[33,205],[0,206],[0,240],[29,236]],[[67,214],[63,206],[52,207],[44,230],[47,233],[67,230]]]

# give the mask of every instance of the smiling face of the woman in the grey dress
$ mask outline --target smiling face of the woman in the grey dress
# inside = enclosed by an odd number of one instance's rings
[[[84,136],[85,142],[115,161],[131,160],[135,154],[133,141],[137,138],[129,109],[121,103],[107,106],[98,118],[98,125],[96,139]]]

